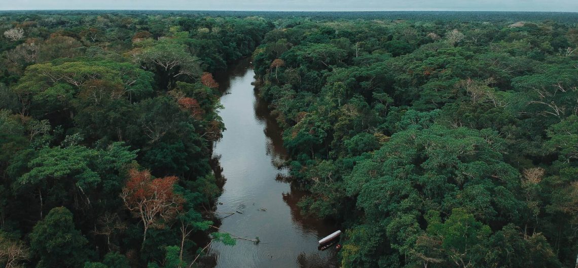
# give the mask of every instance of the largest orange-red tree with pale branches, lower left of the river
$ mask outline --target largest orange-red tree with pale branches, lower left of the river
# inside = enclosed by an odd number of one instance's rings
[[[175,194],[173,186],[179,178],[169,176],[153,179],[149,171],[131,169],[120,195],[124,205],[144,225],[143,243],[149,228],[162,228],[183,210],[184,198]]]

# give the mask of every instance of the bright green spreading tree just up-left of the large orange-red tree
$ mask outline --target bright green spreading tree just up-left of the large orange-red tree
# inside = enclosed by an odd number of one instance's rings
[[[46,147],[29,160],[29,171],[16,180],[14,189],[17,194],[38,194],[40,218],[45,207],[62,203],[86,209],[92,205],[91,199],[100,198],[101,192],[94,190],[103,179],[116,180],[113,174],[135,158],[136,152],[120,142],[103,150],[75,144],[64,148]]]

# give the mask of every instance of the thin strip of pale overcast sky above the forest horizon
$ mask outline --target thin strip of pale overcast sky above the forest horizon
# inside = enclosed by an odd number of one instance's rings
[[[0,0],[0,10],[23,9],[578,12],[578,0]]]

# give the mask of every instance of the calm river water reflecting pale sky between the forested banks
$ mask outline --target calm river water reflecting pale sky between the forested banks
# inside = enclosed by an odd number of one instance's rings
[[[275,179],[287,175],[286,169],[276,168],[286,152],[275,119],[256,97],[253,76],[247,60],[220,79],[226,92],[220,115],[227,130],[214,156],[227,179],[217,211],[243,213],[224,218],[220,228],[247,239],[259,237],[262,243],[213,244],[217,267],[336,267],[333,248],[317,250],[317,241],[335,227],[302,217],[297,202],[304,193]]]

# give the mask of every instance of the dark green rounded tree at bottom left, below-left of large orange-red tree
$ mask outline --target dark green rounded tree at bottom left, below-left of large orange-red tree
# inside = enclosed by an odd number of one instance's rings
[[[66,207],[51,209],[30,233],[30,250],[40,258],[36,267],[80,267],[87,259],[87,243]]]

